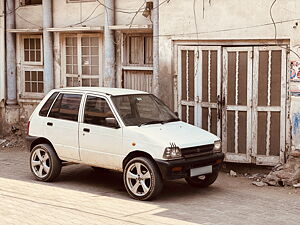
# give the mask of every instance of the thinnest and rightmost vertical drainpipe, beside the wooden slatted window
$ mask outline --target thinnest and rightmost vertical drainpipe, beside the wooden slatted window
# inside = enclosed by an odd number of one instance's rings
[[[153,80],[152,93],[159,96],[159,0],[153,0]]]

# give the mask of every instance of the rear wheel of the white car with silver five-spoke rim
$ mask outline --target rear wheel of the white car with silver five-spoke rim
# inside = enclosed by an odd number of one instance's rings
[[[30,169],[39,181],[54,181],[61,172],[61,160],[49,144],[36,145],[30,154]]]

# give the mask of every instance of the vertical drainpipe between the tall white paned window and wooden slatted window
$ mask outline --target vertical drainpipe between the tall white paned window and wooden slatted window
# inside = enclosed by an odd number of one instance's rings
[[[104,4],[104,76],[103,85],[105,87],[115,87],[115,43],[114,32],[109,26],[115,24],[115,4],[114,0],[105,0]]]

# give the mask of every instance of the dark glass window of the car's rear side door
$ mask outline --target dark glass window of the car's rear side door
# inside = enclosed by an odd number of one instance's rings
[[[79,94],[60,94],[53,104],[49,117],[78,121],[81,97]]]

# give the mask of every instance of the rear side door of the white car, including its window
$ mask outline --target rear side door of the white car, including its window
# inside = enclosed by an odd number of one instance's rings
[[[46,137],[63,159],[80,160],[78,118],[82,93],[60,93],[45,120]]]

